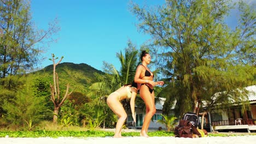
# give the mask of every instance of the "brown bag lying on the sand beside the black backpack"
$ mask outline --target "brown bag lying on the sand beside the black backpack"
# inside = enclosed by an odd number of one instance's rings
[[[190,137],[192,138],[192,133],[191,133],[191,123],[189,121],[184,121],[181,119],[179,121],[179,125],[175,127],[174,129],[174,135],[175,137]]]

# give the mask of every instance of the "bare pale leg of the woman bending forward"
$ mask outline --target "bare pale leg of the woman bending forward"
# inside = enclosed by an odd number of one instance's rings
[[[110,109],[119,117],[117,125],[115,127],[115,135],[113,137],[121,137],[121,130],[126,120],[127,114],[124,110],[123,105],[120,103],[117,97],[111,96],[112,95],[109,95],[107,99],[107,104],[110,107]]]

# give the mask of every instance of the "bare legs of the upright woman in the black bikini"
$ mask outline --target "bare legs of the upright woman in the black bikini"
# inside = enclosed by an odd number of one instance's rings
[[[145,86],[145,85],[141,86],[140,95],[146,105],[146,115],[144,117],[144,122],[142,125],[140,135],[144,136],[144,137],[148,137],[148,135],[147,135],[148,127],[149,127],[151,118],[154,116],[154,114],[156,112],[155,103],[154,103],[154,99],[152,98],[151,93],[148,91],[147,86]]]

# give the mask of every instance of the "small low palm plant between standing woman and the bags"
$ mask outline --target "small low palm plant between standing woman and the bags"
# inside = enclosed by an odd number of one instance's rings
[[[175,124],[177,124],[177,122],[175,122],[175,120],[177,119],[177,117],[174,117],[173,115],[171,116],[167,116],[167,115],[161,115],[163,118],[159,119],[157,122],[164,124],[167,131],[171,131],[174,127]]]

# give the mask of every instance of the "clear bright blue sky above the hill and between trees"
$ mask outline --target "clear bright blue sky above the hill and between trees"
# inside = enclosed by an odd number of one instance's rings
[[[235,1],[235,0],[234,0]],[[139,32],[136,16],[129,11],[130,0],[34,0],[31,1],[32,20],[38,28],[46,29],[55,17],[61,30],[54,36],[43,53],[45,59],[40,64],[44,68],[53,64],[51,53],[64,56],[61,62],[86,63],[102,70],[103,61],[111,63],[119,70],[116,53],[127,47],[130,39],[137,49],[145,43],[149,35]],[[148,6],[165,3],[164,0],[135,0]],[[237,12],[226,21],[234,27]]]

